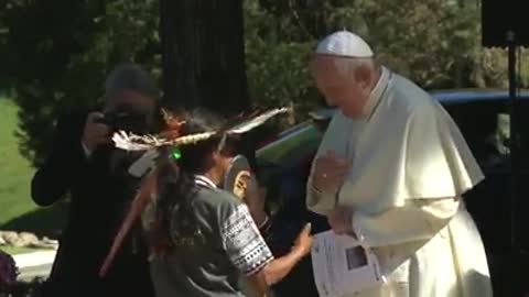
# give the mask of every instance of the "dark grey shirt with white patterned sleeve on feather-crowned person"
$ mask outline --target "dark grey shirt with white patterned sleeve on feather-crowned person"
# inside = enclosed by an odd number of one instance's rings
[[[172,251],[151,260],[156,296],[244,296],[241,274],[252,275],[273,260],[246,205],[208,180],[197,180],[193,198],[198,231],[173,233]],[[151,208],[152,209],[152,208]],[[173,226],[177,217],[173,217]]]

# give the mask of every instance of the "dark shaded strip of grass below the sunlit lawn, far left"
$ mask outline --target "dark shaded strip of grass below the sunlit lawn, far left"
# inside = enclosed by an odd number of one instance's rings
[[[56,239],[64,228],[68,204],[58,202],[39,208],[0,226],[0,230],[28,231],[39,237]]]

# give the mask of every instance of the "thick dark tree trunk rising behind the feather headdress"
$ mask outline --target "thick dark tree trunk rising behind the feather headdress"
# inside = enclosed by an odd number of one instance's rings
[[[160,0],[165,103],[225,116],[250,107],[242,18],[242,0]]]

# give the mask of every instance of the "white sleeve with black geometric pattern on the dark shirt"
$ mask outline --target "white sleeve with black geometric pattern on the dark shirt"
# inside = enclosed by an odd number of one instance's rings
[[[244,204],[235,206],[227,213],[220,226],[220,235],[229,260],[245,275],[259,272],[273,260],[272,252]]]

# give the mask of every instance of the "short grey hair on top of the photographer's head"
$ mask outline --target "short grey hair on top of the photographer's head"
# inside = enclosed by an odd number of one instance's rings
[[[118,65],[105,81],[105,95],[107,98],[123,90],[132,90],[153,99],[159,97],[156,84],[151,75],[132,63]]]

